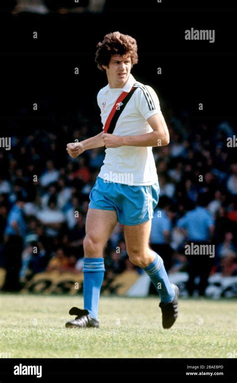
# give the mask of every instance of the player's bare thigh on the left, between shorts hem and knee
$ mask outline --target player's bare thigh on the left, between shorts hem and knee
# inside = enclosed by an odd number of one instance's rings
[[[88,209],[85,221],[85,234],[105,246],[115,225],[115,210]]]

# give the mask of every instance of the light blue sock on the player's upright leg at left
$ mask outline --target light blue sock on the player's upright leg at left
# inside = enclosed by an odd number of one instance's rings
[[[83,296],[84,310],[98,318],[99,294],[104,276],[103,258],[84,258],[83,259]]]

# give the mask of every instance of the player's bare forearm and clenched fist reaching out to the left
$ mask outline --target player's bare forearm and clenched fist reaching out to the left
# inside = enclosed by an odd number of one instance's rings
[[[86,140],[80,142],[70,142],[66,145],[66,150],[68,154],[75,158],[79,154],[82,154],[85,150],[99,148],[104,146],[104,142],[102,140],[103,131],[96,134],[96,136],[87,138]]]

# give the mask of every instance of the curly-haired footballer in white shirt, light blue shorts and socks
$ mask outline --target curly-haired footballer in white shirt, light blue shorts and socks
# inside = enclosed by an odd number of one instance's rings
[[[88,149],[106,149],[89,194],[85,222],[84,308],[71,308],[69,314],[75,318],[65,326],[99,327],[99,295],[105,271],[103,249],[119,222],[124,227],[129,260],[144,270],[154,284],[160,298],[162,326],[169,329],[178,314],[178,287],[169,282],[162,258],[149,247],[151,219],[159,195],[152,147],[168,145],[168,129],[155,91],[131,74],[138,61],[136,40],[112,32],[96,47],[97,67],[106,73],[108,81],[97,94],[103,130],[81,142],[68,143],[66,150],[75,158]]]

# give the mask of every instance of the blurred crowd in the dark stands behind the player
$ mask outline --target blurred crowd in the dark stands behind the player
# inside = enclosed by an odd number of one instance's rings
[[[150,243],[170,273],[206,270],[237,275],[237,163],[226,139],[234,132],[227,122],[190,126],[174,117],[168,122],[170,144],[153,148],[159,179]],[[99,129],[99,128],[98,128]],[[0,267],[7,271],[4,290],[19,290],[42,271],[82,270],[83,238],[89,192],[104,158],[104,147],[72,159],[66,143],[91,135],[89,120],[74,129],[66,124],[12,136],[10,150],[0,149]],[[193,222],[195,225],[193,226]],[[198,229],[198,230],[197,230]],[[214,244],[213,258],[185,255],[189,242]],[[136,270],[127,257],[123,227],[117,224],[104,249],[111,279]],[[196,261],[197,260],[197,261]]]

